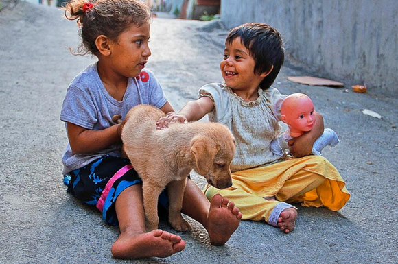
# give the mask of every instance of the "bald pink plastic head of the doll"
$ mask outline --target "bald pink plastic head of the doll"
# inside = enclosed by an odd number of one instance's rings
[[[301,136],[312,130],[315,123],[314,104],[303,93],[293,93],[286,97],[281,106],[281,120],[288,124],[290,136]]]

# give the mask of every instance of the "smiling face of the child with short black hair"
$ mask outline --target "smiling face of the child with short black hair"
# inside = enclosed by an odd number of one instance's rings
[[[241,43],[240,38],[226,44],[224,59],[220,62],[222,78],[233,90],[246,91],[257,88],[266,75],[254,73],[255,60]]]

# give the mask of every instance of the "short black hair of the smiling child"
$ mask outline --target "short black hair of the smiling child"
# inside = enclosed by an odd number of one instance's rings
[[[254,73],[261,74],[274,69],[260,84],[260,88],[266,90],[277,77],[285,60],[285,49],[281,34],[264,23],[246,23],[230,30],[225,43],[231,44],[235,38],[240,38],[242,44],[250,52],[255,60]]]

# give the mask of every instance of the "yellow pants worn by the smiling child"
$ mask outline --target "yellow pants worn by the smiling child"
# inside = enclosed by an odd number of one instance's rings
[[[232,173],[233,186],[217,189],[207,184],[207,198],[216,193],[233,201],[242,212],[242,219],[268,221],[282,202],[300,202],[302,206],[325,206],[338,211],[349,200],[345,182],[323,156],[292,158],[280,163]],[[274,196],[277,200],[266,200]],[[285,204],[285,203],[283,203]],[[272,213],[272,211],[274,211]],[[277,216],[279,216],[278,212]]]

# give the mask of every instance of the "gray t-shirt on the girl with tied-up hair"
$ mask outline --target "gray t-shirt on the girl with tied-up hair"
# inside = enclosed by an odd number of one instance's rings
[[[79,73],[67,88],[60,119],[65,122],[65,128],[67,123],[73,123],[89,130],[103,130],[115,125],[112,121],[114,115],[121,115],[124,119],[133,106],[149,104],[161,108],[166,103],[161,85],[148,69],[143,69],[138,77],[129,78],[123,100],[117,101],[106,91],[98,75],[97,63],[94,63]],[[98,152],[75,154],[68,143],[62,157],[62,174],[83,167],[105,154],[120,156],[121,144]]]

